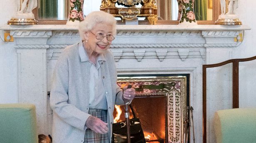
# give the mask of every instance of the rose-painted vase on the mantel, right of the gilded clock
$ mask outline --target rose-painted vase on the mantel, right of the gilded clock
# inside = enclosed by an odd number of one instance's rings
[[[195,0],[178,0],[179,5],[179,24],[197,24],[194,14]]]

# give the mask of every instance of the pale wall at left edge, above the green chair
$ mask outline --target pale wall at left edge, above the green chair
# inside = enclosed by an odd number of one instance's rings
[[[0,0],[0,25],[7,24],[16,13],[15,3],[15,0]],[[0,36],[3,39],[2,31]],[[0,103],[17,102],[17,54],[13,45],[0,40]]]

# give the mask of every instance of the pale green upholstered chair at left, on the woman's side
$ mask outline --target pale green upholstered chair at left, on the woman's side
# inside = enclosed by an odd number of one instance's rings
[[[0,104],[0,143],[38,143],[35,105]]]

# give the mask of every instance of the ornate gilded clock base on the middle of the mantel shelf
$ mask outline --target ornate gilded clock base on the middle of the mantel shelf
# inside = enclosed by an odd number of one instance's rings
[[[125,8],[116,7],[115,4]],[[135,5],[141,4],[141,8]],[[100,10],[112,14],[114,17],[132,20],[137,17],[147,17],[150,24],[157,24],[156,0],[102,0]]]

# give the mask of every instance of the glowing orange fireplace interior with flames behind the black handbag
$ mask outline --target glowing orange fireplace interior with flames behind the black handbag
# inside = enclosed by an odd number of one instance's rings
[[[164,96],[157,96],[135,97],[132,101],[132,108],[134,109],[136,117],[140,120],[144,137],[146,141],[150,141],[150,143],[164,143],[166,140],[166,100]],[[119,115],[119,120],[116,120],[116,122],[125,121],[124,106],[121,106],[120,109],[122,113]],[[114,117],[116,117],[117,114],[117,110],[114,110]],[[130,118],[133,118],[131,110]]]

